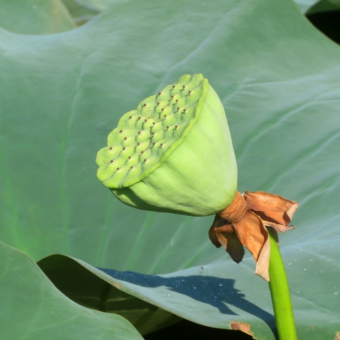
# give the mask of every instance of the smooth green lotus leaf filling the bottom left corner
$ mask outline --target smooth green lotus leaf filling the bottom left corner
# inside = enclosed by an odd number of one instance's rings
[[[1,339],[143,339],[120,315],[68,299],[29,256],[2,242],[0,258]]]

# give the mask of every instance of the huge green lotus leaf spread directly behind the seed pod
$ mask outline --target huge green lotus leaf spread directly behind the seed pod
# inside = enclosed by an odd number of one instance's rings
[[[127,1],[66,33],[1,30],[0,54],[2,240],[36,260],[57,252],[120,271],[225,259],[219,275],[269,312],[251,257],[236,266],[210,244],[211,218],[134,210],[95,177],[95,154],[123,113],[202,72],[227,112],[239,190],[301,203],[297,228],[281,238],[300,329],[310,315],[311,332],[328,322],[334,331],[340,50],[295,3]]]

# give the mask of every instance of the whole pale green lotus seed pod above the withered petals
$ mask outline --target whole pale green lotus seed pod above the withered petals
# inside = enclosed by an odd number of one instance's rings
[[[213,215],[232,203],[237,166],[222,103],[202,74],[140,102],[97,154],[97,177],[143,210]]]

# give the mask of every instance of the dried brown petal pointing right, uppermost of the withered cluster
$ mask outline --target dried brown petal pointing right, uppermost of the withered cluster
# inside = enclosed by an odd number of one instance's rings
[[[245,191],[243,197],[247,201],[249,210],[262,212],[269,221],[274,221],[283,226],[289,225],[295,210],[299,206],[294,201],[264,191]]]

